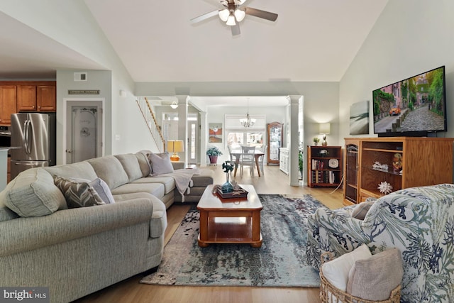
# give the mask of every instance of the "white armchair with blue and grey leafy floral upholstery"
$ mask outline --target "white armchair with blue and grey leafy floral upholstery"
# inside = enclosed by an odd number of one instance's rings
[[[360,204],[358,204],[360,205]],[[326,208],[308,218],[307,261],[367,244],[372,254],[397,248],[404,261],[401,302],[454,302],[454,184],[413,187],[373,202],[363,220],[358,206]]]

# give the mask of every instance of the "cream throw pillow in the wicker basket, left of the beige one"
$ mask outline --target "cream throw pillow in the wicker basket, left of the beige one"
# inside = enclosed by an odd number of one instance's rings
[[[323,271],[326,280],[328,280],[331,285],[345,292],[347,289],[348,272],[350,272],[350,269],[355,262],[357,260],[370,258],[371,256],[372,254],[367,245],[362,244],[362,246],[350,253],[345,253],[339,258],[323,263],[321,270]]]

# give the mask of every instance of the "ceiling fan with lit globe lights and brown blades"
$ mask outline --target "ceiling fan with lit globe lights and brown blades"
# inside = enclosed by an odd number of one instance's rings
[[[262,11],[260,9],[253,9],[249,6],[242,6],[246,0],[221,0],[224,9],[218,9],[209,13],[204,13],[201,16],[191,19],[191,23],[198,23],[207,18],[218,15],[222,21],[226,22],[231,27],[232,35],[240,34],[239,23],[243,21],[245,15],[263,18],[269,21],[276,21],[277,13],[270,13],[269,11]]]

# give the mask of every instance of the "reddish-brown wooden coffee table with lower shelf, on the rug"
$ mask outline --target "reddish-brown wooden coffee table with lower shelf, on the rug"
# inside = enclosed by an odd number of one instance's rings
[[[209,246],[210,243],[249,243],[255,248],[262,246],[262,203],[253,185],[241,184],[240,187],[248,191],[248,197],[223,199],[213,193],[213,184],[206,187],[197,204],[200,211],[200,247]]]

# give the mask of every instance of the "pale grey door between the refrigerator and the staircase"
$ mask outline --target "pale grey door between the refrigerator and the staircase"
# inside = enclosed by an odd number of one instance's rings
[[[102,102],[67,101],[66,163],[102,155]]]

